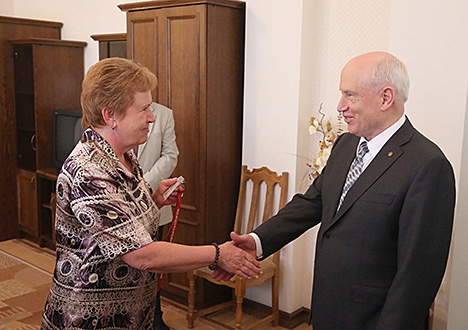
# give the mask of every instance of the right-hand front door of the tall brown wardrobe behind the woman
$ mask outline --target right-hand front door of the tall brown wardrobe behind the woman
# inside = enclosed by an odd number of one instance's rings
[[[186,179],[177,242],[211,244],[206,241],[206,60],[205,5],[161,9],[159,72],[164,72],[159,100],[174,111],[180,155],[175,176]],[[166,288],[187,295],[185,273],[166,277]],[[182,289],[182,290],[181,290]],[[200,290],[200,294],[202,290]]]

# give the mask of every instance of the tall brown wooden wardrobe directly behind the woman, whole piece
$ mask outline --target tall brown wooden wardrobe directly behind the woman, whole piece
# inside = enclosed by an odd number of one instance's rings
[[[242,156],[245,2],[146,1],[127,11],[127,55],[158,77],[156,102],[174,111],[187,181],[175,241],[211,244],[233,229]],[[198,283],[197,303],[230,297]],[[186,274],[165,276],[163,294],[186,303]]]

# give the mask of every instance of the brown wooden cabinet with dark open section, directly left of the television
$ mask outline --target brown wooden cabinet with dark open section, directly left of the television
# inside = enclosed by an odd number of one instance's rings
[[[36,196],[37,188],[29,188],[26,178],[37,184],[36,171],[52,167],[53,110],[80,107],[86,43],[54,39],[10,43],[14,58],[20,230],[42,244],[43,224],[37,218],[42,204],[37,202],[42,203],[44,197]],[[50,199],[50,192],[47,194]],[[23,201],[34,202],[28,205]],[[35,210],[25,211],[28,207]],[[25,214],[33,218],[26,221]]]

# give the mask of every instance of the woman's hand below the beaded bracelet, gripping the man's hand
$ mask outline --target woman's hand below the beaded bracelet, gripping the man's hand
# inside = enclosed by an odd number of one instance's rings
[[[226,242],[219,246],[218,267],[225,272],[235,274],[245,279],[258,278],[262,274],[260,263],[250,254],[235,246],[234,242]]]

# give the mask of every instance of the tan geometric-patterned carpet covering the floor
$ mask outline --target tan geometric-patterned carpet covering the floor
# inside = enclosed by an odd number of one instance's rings
[[[0,242],[0,330],[40,329],[42,310],[55,266],[53,251],[21,239]],[[184,306],[161,299],[164,320],[174,330],[185,330]],[[217,321],[198,318],[194,330],[220,330],[229,327]]]

